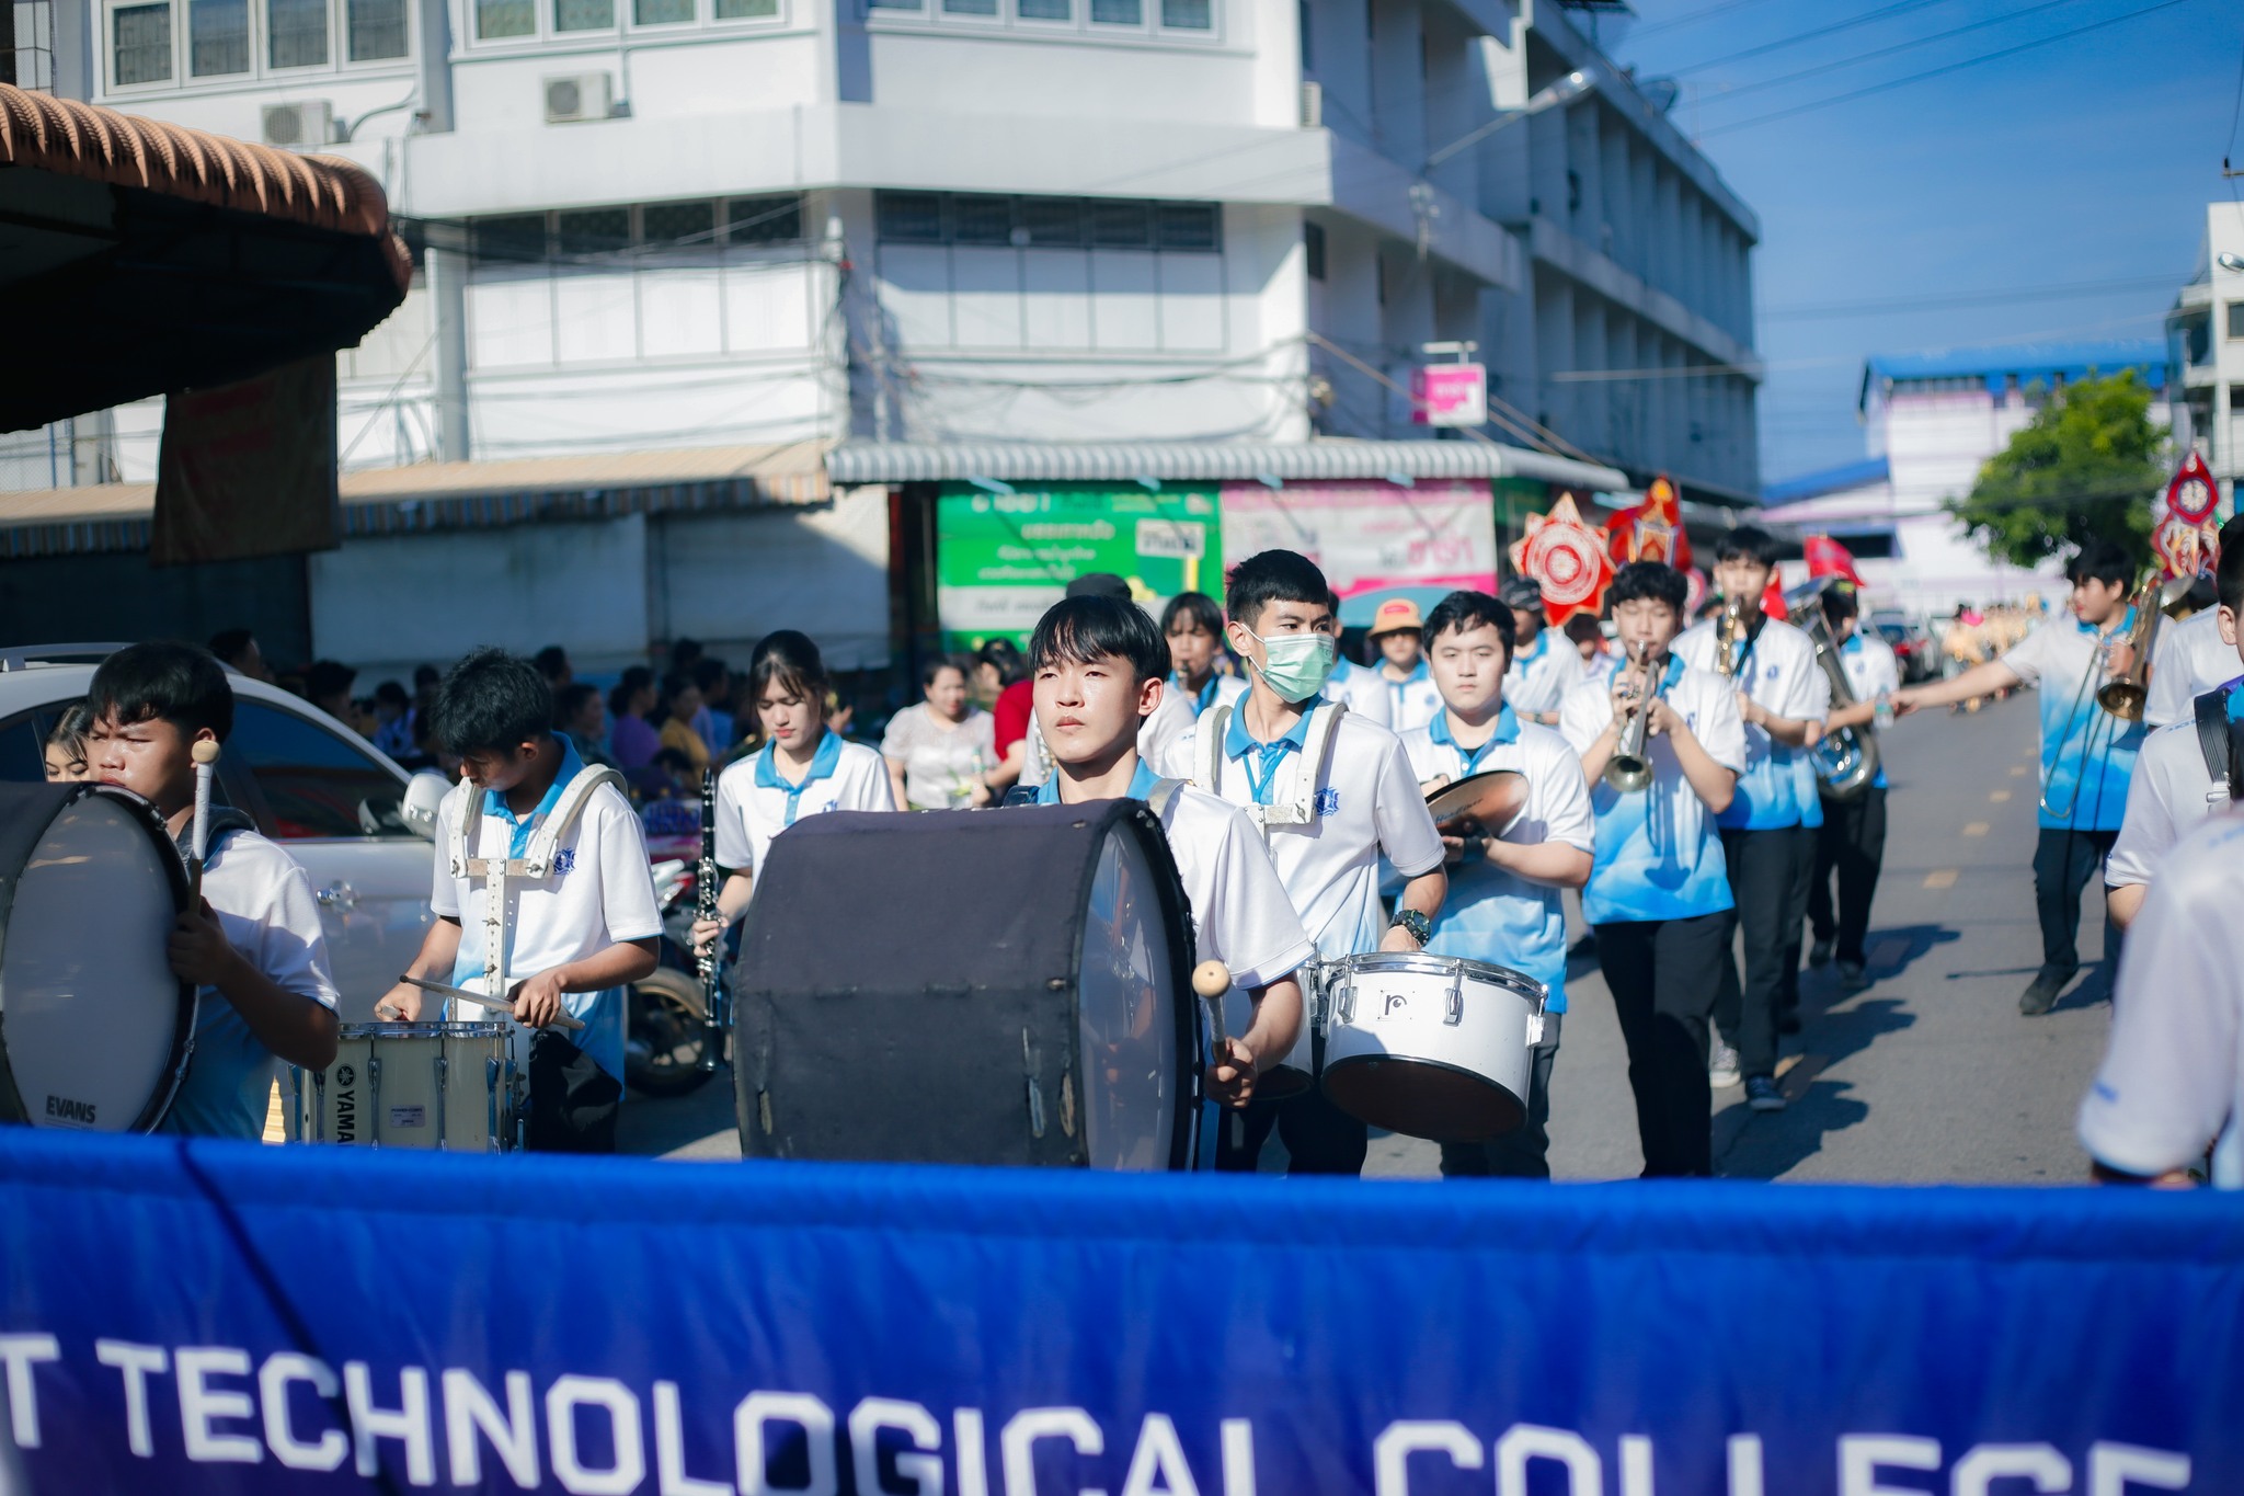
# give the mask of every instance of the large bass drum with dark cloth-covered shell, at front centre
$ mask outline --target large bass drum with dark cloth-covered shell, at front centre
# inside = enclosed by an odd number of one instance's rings
[[[1192,951],[1138,801],[799,821],[734,967],[741,1153],[1192,1169]]]

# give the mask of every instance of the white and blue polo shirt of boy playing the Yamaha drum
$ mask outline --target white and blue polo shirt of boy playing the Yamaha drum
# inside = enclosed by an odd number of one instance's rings
[[[471,857],[521,857],[539,821],[552,812],[561,792],[583,760],[570,749],[563,756],[554,787],[539,807],[514,819],[505,796],[476,789],[465,778],[444,796],[435,816],[435,886],[429,908],[460,922],[460,955],[451,964],[456,987],[476,987],[487,969],[482,911],[487,884],[462,870],[451,875],[451,841],[469,794],[482,794],[482,821]],[[583,960],[610,944],[649,940],[662,933],[662,908],[655,904],[655,879],[646,864],[646,841],[640,816],[615,785],[601,785],[586,801],[577,825],[554,850],[554,870],[545,879],[507,879],[514,908],[507,920],[505,971],[512,980],[550,971],[563,962]],[[456,1007],[462,1007],[456,1003]],[[561,1029],[561,1036],[590,1054],[601,1070],[624,1079],[624,991],[570,991],[561,1007],[583,1029]],[[487,1018],[487,1009],[456,1012],[456,1018]]]

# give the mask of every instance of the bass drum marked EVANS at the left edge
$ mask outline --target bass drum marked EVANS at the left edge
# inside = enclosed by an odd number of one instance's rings
[[[153,1133],[195,1034],[186,866],[114,785],[0,785],[0,1121]]]

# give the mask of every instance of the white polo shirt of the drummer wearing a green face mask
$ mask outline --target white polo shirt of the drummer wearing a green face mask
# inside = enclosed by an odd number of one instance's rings
[[[1169,749],[1169,758],[1158,765],[1160,772],[1192,778],[1201,767],[1198,738],[1214,720],[1210,715],[1196,722]],[[1232,805],[1290,803],[1313,720],[1315,713],[1302,713],[1293,733],[1272,745],[1257,745],[1245,727],[1245,709],[1232,709],[1223,740],[1223,783],[1203,787]],[[1270,825],[1263,830],[1263,843],[1270,848],[1270,864],[1286,886],[1286,897],[1293,899],[1308,938],[1326,960],[1378,949],[1387,926],[1380,917],[1380,852],[1403,877],[1418,877],[1441,866],[1441,832],[1425,810],[1400,738],[1353,711],[1342,713],[1333,729],[1310,821]]]

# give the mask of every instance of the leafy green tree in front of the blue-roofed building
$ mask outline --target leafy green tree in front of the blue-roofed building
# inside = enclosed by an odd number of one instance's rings
[[[1986,460],[1968,498],[1943,507],[1995,561],[2035,565],[2082,541],[2148,556],[2152,498],[2165,484],[2165,433],[2134,370],[2069,384]]]

